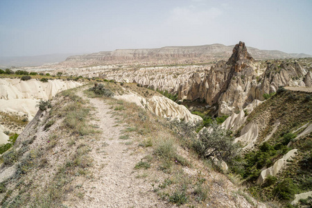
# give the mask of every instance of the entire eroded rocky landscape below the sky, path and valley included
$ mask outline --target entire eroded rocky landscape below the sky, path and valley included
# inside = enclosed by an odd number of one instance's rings
[[[1,205],[309,207],[312,58],[301,57],[239,42],[1,73]]]

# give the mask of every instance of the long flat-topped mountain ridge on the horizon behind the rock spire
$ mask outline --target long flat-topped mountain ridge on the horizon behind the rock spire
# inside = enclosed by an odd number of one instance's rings
[[[63,63],[70,62],[127,62],[127,61],[153,61],[177,60],[188,61],[225,60],[232,54],[234,46],[211,44],[203,46],[165,46],[159,49],[116,49],[115,51],[101,51],[85,55],[69,56]],[[304,53],[284,53],[276,50],[260,50],[247,47],[255,59],[280,59],[280,58],[306,58],[312,57]]]

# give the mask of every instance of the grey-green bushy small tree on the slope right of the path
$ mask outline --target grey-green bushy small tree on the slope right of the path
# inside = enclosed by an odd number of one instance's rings
[[[229,136],[227,130],[213,122],[199,132],[193,147],[202,157],[213,156],[230,162],[239,153],[239,144],[234,144],[233,141],[234,138]]]

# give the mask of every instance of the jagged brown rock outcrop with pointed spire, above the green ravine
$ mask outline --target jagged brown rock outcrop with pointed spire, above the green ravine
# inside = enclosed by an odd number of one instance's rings
[[[243,42],[236,44],[227,62],[219,61],[204,78],[193,73],[190,80],[180,85],[178,98],[207,104],[218,103],[218,114],[232,114],[255,99],[263,101],[263,94],[276,92],[279,86],[311,86],[311,71],[298,62],[267,62],[261,73],[257,63]]]

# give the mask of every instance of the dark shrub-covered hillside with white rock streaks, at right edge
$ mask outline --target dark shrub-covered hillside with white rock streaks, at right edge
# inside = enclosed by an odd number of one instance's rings
[[[295,199],[296,203],[304,198],[300,206],[311,205],[306,200],[312,185],[311,105],[311,92],[279,88],[250,114],[245,111],[225,121],[236,142],[243,144],[243,157],[237,159],[233,171],[244,178],[257,198]],[[235,123],[232,126],[231,121]]]

